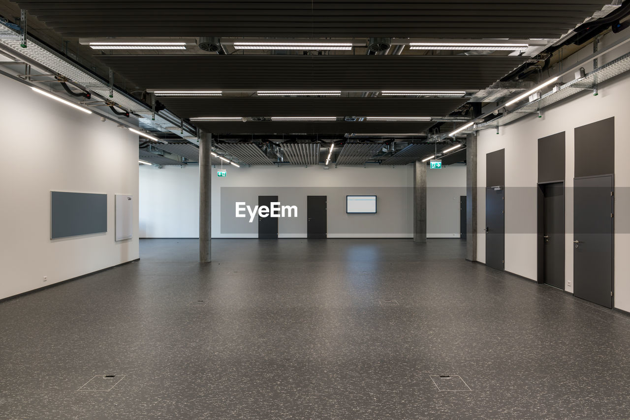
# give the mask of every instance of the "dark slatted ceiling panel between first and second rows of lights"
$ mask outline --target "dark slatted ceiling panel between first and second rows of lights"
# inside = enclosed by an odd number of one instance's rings
[[[149,89],[485,89],[526,57],[478,55],[98,55]]]

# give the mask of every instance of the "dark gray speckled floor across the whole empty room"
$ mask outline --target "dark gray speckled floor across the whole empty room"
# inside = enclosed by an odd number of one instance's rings
[[[197,241],[143,240],[138,263],[0,303],[0,418],[630,418],[630,317],[458,240],[213,248],[201,266]],[[89,390],[103,375],[125,376]]]

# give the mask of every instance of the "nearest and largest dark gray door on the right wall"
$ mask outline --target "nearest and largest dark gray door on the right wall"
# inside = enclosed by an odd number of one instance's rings
[[[612,307],[612,175],[575,178],[573,200],[573,294]]]

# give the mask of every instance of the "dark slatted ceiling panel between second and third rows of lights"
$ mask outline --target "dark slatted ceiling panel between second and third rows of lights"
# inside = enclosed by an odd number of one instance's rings
[[[466,98],[159,98],[183,118],[196,116],[444,116]]]

